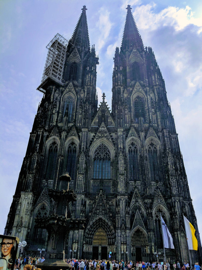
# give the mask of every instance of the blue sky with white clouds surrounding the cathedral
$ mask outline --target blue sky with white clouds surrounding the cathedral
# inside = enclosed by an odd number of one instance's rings
[[[69,39],[86,5],[90,44],[95,44],[99,101],[111,107],[113,56],[121,46],[127,4],[144,46],[152,47],[165,79],[176,131],[202,234],[202,4],[167,0],[0,1],[0,181],[3,234],[12,196],[42,93],[46,45]],[[20,192],[20,191],[19,191]],[[201,238],[202,239],[202,238]],[[23,239],[25,240],[25,239]]]

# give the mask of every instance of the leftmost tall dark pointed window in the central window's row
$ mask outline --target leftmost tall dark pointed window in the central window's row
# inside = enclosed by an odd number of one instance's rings
[[[46,179],[54,179],[58,156],[58,145],[54,141],[48,149]]]

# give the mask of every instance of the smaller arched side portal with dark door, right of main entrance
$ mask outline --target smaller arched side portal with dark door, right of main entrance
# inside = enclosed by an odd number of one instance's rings
[[[149,260],[149,244],[146,232],[137,227],[131,235],[131,253],[133,261]]]

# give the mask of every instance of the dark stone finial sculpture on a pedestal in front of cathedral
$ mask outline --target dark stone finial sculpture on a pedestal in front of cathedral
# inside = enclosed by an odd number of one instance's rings
[[[48,195],[56,202],[55,213],[47,218],[35,218],[37,227],[48,231],[46,259],[40,263],[42,270],[69,269],[64,260],[64,246],[70,230],[83,230],[85,219],[67,218],[69,202],[76,201],[76,194],[69,189],[71,177],[63,174],[59,178],[59,190],[48,190]]]

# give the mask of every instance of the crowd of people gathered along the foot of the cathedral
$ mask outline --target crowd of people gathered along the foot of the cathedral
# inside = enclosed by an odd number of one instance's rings
[[[15,261],[16,270],[20,270],[23,266],[23,270],[41,270],[40,263],[44,262],[44,257],[30,257],[18,258]],[[144,261],[116,261],[116,260],[76,260],[65,259],[67,264],[71,265],[70,270],[171,270],[171,266],[168,262],[144,262]],[[191,270],[189,263],[184,262],[181,266],[179,261],[173,263],[173,270]],[[195,263],[194,270],[202,270],[198,263]]]

